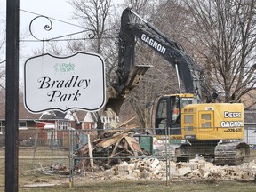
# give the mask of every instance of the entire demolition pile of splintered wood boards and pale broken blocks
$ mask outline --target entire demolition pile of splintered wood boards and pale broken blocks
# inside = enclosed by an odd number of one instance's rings
[[[254,180],[256,163],[239,166],[217,166],[203,156],[189,162],[175,163],[172,160],[145,156],[131,129],[107,131],[92,142],[89,140],[75,152],[79,160],[75,173],[93,174],[100,180]],[[168,164],[167,164],[168,163]],[[168,168],[166,168],[168,167]],[[91,174],[91,175],[92,175]]]

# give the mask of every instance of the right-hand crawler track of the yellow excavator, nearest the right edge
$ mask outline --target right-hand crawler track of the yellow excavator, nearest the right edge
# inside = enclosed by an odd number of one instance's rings
[[[248,161],[250,147],[244,142],[220,143],[215,147],[216,165],[239,165]]]

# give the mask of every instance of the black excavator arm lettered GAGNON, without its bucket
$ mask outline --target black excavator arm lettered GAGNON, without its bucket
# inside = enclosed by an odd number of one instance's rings
[[[136,22],[135,18],[142,23]],[[178,69],[186,93],[195,94],[199,102],[203,99],[210,102],[211,92],[205,85],[203,69],[196,65],[180,44],[170,40],[159,29],[140,18],[131,8],[125,9],[121,18],[118,81],[115,84],[117,92],[124,92],[125,82],[131,71],[134,71],[135,37],[162,55],[173,68]]]

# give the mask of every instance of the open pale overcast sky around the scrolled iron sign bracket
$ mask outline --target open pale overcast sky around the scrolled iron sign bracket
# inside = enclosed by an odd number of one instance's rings
[[[6,1],[7,0],[0,0],[0,29],[5,28],[3,20],[5,21],[6,16]],[[123,0],[114,0],[113,2],[116,4],[121,4]],[[46,19],[36,19],[33,22],[32,31],[33,34],[39,39],[50,38],[52,36],[64,36],[82,31],[83,28],[79,27],[79,24],[76,22],[76,20],[71,20],[72,12],[73,7],[68,4],[68,0],[20,0],[20,40],[35,40],[33,36],[28,36],[28,29],[31,20],[35,19],[38,15],[44,15],[56,20],[63,20],[76,25],[68,25],[67,23],[52,20],[53,28],[51,33],[47,33],[44,30],[44,26],[49,24],[49,21]],[[0,34],[0,38],[1,37],[3,38],[3,36]],[[42,49],[42,47],[42,42],[20,42],[20,72],[22,71],[22,66],[24,65],[25,61],[34,55],[33,51],[36,49]],[[5,52],[2,49],[2,52],[0,52],[0,62],[3,60],[5,60]]]

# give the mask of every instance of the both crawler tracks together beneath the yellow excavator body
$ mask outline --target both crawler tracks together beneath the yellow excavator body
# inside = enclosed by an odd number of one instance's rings
[[[250,147],[245,142],[228,142],[214,144],[210,141],[194,142],[193,144],[171,144],[168,145],[168,156],[172,157],[173,161],[188,161],[196,155],[202,155],[214,159],[216,165],[239,165],[248,162],[250,156]],[[164,151],[164,150],[163,150]],[[162,154],[164,155],[164,154]]]

